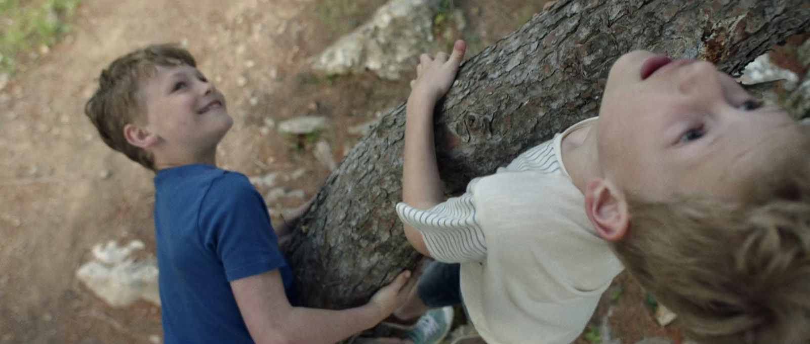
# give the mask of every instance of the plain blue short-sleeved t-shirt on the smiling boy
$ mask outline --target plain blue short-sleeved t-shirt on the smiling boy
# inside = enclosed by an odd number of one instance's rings
[[[209,164],[160,170],[155,189],[164,342],[253,342],[229,282],[279,269],[295,300],[264,199],[241,173]]]

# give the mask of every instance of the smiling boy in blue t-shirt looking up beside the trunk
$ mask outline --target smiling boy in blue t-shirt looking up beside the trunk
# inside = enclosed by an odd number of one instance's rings
[[[278,247],[285,233],[274,232],[244,175],[216,167],[232,119],[185,49],[151,45],[119,57],[85,113],[109,147],[156,172],[164,342],[338,342],[403,303],[408,271],[357,308],[295,306]]]

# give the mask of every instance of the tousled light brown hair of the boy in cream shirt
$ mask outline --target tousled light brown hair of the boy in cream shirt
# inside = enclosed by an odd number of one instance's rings
[[[776,155],[744,201],[628,202],[616,254],[700,342],[810,342],[810,136]]]

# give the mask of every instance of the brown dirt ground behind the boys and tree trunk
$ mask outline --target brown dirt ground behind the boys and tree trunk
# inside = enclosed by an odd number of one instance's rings
[[[271,123],[305,114],[329,118],[332,129],[320,139],[330,142],[338,160],[359,138],[348,128],[407,98],[410,78],[332,79],[309,72],[309,57],[382,3],[83,2],[70,35],[0,90],[0,343],[160,342],[159,308],[145,301],[111,308],[75,278],[94,244],[137,239],[155,251],[151,172],[104,146],[83,115],[103,66],[150,43],[187,45],[199,69],[224,91],[235,120],[218,162],[248,176],[279,172],[279,184],[303,190],[305,197],[281,197],[268,206],[297,206],[313,196],[329,170],[313,157],[309,142],[296,147]],[[544,2],[459,3],[467,15],[464,36],[480,50],[525,23]],[[305,176],[296,179],[292,172],[299,169]],[[599,311],[627,304],[615,311],[621,317],[611,318],[622,329],[614,335],[634,342],[667,332],[651,325],[643,292],[632,281],[621,288]],[[588,341],[593,339],[581,340]]]

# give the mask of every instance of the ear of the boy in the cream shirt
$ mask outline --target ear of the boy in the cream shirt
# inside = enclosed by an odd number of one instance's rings
[[[627,202],[608,180],[590,180],[585,192],[585,211],[602,239],[618,241],[627,233],[630,220]]]

